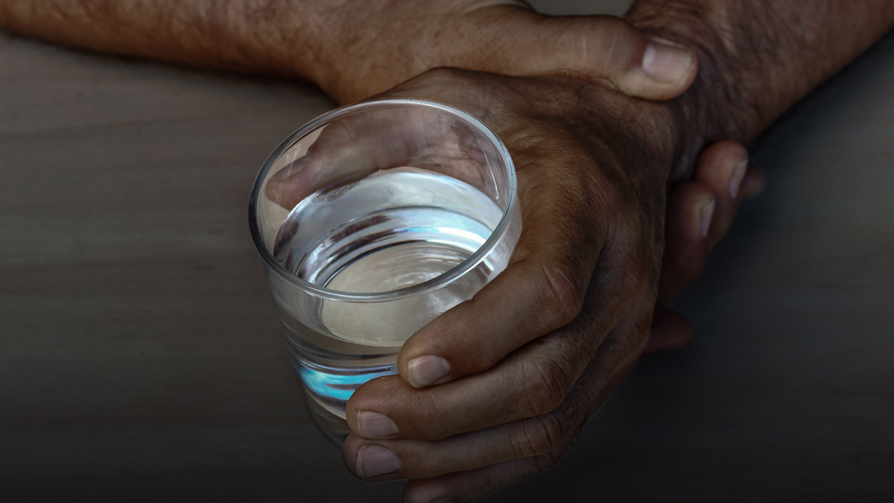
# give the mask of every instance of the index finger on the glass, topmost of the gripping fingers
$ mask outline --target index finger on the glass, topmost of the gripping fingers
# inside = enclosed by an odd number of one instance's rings
[[[471,300],[409,337],[397,368],[410,385],[424,388],[485,371],[578,315],[603,247],[605,224],[595,217],[596,198],[578,197],[590,192],[581,186],[585,181],[557,178],[537,166],[519,170],[524,224],[509,267]],[[600,288],[620,288],[620,275],[606,282]]]

